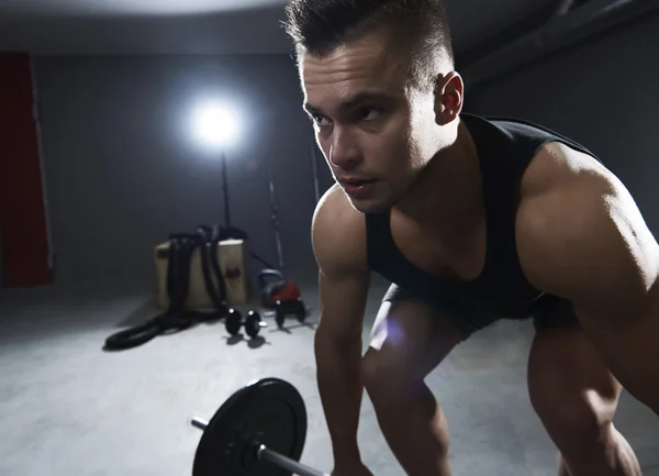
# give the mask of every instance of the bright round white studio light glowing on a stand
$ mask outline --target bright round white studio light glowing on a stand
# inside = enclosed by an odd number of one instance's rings
[[[230,144],[237,134],[234,111],[221,102],[199,104],[192,117],[194,136],[208,147],[222,147]]]

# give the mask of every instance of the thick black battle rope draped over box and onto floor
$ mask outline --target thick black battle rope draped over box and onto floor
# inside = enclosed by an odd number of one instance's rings
[[[226,284],[217,259],[217,246],[226,240],[248,241],[242,230],[222,228],[221,225],[198,226],[194,233],[175,233],[169,235],[169,259],[167,264],[167,295],[169,307],[163,314],[156,316],[143,324],[116,332],[105,340],[105,350],[119,351],[137,347],[152,339],[172,332],[180,332],[200,322],[224,319],[228,312],[226,307]],[[194,251],[199,248],[202,276],[206,292],[215,308],[212,312],[191,311],[186,309],[186,299],[190,284],[190,262]],[[252,253],[252,256],[271,268],[264,258]],[[214,286],[213,277],[217,283]]]

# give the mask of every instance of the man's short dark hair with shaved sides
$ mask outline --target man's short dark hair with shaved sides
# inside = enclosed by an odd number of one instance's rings
[[[382,26],[395,35],[396,45],[409,48],[417,84],[434,82],[438,62],[454,67],[442,0],[290,0],[286,7],[284,29],[297,53],[323,57]]]

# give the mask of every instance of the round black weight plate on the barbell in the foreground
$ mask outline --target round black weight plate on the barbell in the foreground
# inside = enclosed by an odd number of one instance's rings
[[[256,449],[237,434],[247,432],[268,449],[299,461],[306,439],[306,408],[300,392],[278,378],[265,378],[233,394],[204,430],[192,476],[289,476],[256,460]]]

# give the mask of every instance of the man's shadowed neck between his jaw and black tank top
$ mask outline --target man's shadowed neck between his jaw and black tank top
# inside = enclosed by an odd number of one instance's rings
[[[468,225],[482,210],[482,180],[478,152],[460,122],[456,140],[435,155],[395,210],[422,224]]]

